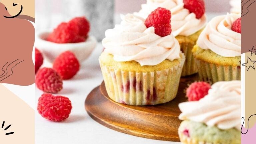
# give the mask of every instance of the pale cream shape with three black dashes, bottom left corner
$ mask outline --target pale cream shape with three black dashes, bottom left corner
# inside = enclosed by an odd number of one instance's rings
[[[34,110],[0,84],[0,143],[34,144]],[[2,123],[5,121],[2,128]],[[7,128],[11,125],[9,128]],[[7,129],[6,129],[7,128]],[[6,129],[6,130],[4,130]],[[14,132],[6,135],[6,133]]]

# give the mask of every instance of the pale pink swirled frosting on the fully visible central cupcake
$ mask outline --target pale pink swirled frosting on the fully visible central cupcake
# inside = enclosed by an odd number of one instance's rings
[[[105,52],[118,62],[136,61],[141,66],[157,65],[165,59],[180,58],[180,45],[170,34],[160,37],[155,28],[147,28],[145,19],[133,14],[121,15],[122,22],[105,32],[102,40]]]

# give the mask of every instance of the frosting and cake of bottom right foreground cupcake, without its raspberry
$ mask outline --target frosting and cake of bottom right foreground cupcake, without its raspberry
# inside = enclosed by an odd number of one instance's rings
[[[241,143],[241,81],[217,82],[205,97],[180,103],[179,108],[181,143]]]

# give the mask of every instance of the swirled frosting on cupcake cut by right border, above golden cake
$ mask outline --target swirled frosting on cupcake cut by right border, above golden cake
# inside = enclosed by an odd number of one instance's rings
[[[229,14],[213,18],[200,34],[197,44],[223,57],[241,56],[241,34],[231,30],[232,23],[240,14]]]

